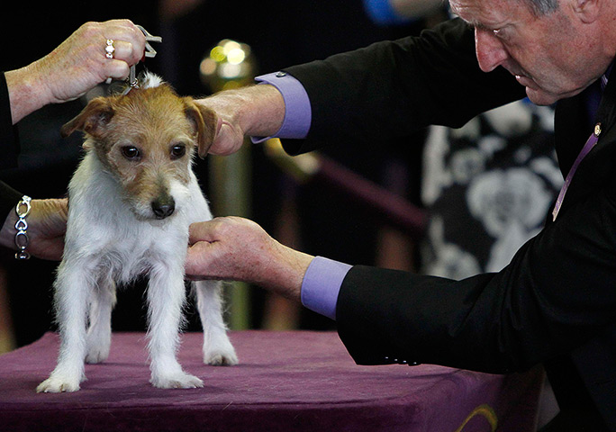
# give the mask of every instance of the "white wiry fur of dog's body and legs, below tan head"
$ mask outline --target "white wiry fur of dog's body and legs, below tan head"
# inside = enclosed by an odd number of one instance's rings
[[[188,226],[212,214],[192,171],[187,186],[171,183],[174,214],[165,220],[137,219],[95,151],[86,153],[69,184],[65,253],[54,284],[61,338],[58,365],[37,392],[79,390],[86,379],[84,361],[100,363],[109,355],[115,284],[128,284],[144,272],[149,274],[151,383],[161,388],[203,386],[182,370],[176,352],[186,301]],[[194,289],[204,327],[204,363],[237,364],[222,320],[220,283],[198,282]]]

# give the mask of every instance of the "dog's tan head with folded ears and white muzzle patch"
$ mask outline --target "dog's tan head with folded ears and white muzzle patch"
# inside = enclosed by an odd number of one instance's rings
[[[135,215],[161,220],[187,199],[192,159],[207,154],[215,127],[213,111],[146,76],[128,94],[93,99],[60,131],[84,131],[84,148],[121,184]]]

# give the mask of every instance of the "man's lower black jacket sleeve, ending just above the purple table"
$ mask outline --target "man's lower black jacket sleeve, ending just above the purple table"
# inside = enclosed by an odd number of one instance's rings
[[[338,299],[340,338],[366,365],[508,373],[565,354],[615,320],[615,223],[612,177],[500,273],[453,281],[355,266]]]

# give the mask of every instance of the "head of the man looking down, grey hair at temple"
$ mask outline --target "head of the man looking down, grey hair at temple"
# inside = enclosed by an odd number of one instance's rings
[[[534,103],[549,104],[591,85],[616,54],[612,0],[450,0],[475,28],[485,72],[503,66]]]

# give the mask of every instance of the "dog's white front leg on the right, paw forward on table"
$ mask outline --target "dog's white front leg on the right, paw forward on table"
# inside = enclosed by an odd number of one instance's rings
[[[149,274],[148,285],[148,348],[150,382],[155,387],[189,389],[204,386],[199,378],[186,374],[176,359],[178,330],[185,301],[183,268],[171,268],[163,264],[154,266]]]

